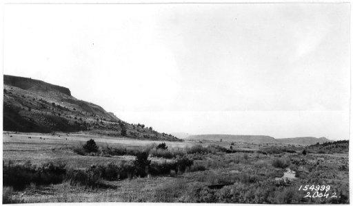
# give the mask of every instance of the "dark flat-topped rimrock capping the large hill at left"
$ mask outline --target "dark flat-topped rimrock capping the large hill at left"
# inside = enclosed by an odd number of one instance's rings
[[[32,80],[31,78],[4,75],[3,84],[8,84],[10,86],[19,87],[20,89],[29,91],[59,91],[60,93],[71,96],[70,89],[66,87],[49,84],[41,80]]]

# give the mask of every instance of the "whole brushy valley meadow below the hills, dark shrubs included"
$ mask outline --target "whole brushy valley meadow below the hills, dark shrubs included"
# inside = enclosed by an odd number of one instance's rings
[[[3,133],[3,203],[349,203],[348,174],[303,146]]]

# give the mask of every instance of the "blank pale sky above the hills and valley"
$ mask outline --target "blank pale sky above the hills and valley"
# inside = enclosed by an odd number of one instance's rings
[[[350,4],[5,5],[3,73],[160,132],[348,139]]]

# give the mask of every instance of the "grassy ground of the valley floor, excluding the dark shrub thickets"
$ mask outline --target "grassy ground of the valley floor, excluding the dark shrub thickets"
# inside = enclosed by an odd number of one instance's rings
[[[64,163],[66,168],[88,171],[92,165],[119,164],[136,159],[134,155],[84,156],[74,152],[73,148],[81,148],[88,139],[94,139],[99,148],[131,150],[148,147],[155,150],[154,147],[162,143],[82,133],[3,133],[3,163],[9,165],[10,161],[13,165],[22,165],[30,161],[32,165],[43,165],[52,161]],[[184,152],[184,157],[192,160],[192,166],[185,172],[171,170],[168,174],[132,176],[131,179],[107,180],[99,177],[99,185],[95,186],[74,185],[69,179],[47,185],[31,183],[21,190],[3,185],[4,203],[349,203],[347,152],[318,154],[308,151],[307,155],[303,155],[305,148],[290,146],[290,150],[284,150],[265,148],[260,144],[230,145],[217,141],[165,143],[171,152]],[[233,152],[230,152],[230,146]],[[201,151],[200,148],[212,150]],[[165,159],[152,154],[150,152],[148,157],[151,164],[163,164],[179,158]],[[279,181],[288,168],[296,172],[296,178]],[[315,192],[310,189],[299,191],[305,185],[330,185],[327,191],[330,196],[305,198],[307,192],[311,192],[310,196]],[[336,193],[336,198],[331,197],[333,193]]]

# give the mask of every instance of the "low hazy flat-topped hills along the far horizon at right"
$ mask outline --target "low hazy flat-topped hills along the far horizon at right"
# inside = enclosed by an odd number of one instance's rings
[[[294,138],[284,138],[275,139],[274,137],[265,135],[191,135],[186,138],[190,140],[205,140],[205,141],[227,141],[227,142],[244,142],[244,143],[270,143],[270,144],[300,144],[300,145],[312,145],[319,142],[331,141],[325,137],[294,137]]]

